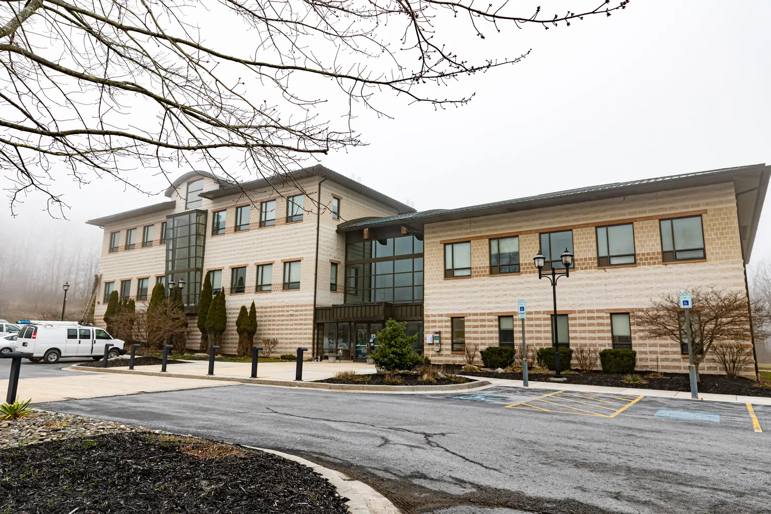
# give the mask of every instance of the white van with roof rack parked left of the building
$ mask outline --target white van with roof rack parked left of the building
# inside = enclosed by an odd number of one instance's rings
[[[79,324],[29,324],[19,332],[16,351],[32,362],[45,361],[55,364],[62,357],[91,357],[98,360],[104,355],[104,345],[113,344],[108,358],[123,355],[124,342],[113,339],[102,328],[84,327]]]

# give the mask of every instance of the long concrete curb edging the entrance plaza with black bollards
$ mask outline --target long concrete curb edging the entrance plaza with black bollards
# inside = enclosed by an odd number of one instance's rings
[[[328,389],[332,391],[375,391],[375,392],[443,392],[443,391],[463,391],[466,389],[476,389],[489,387],[492,385],[487,380],[475,378],[474,382],[466,384],[449,385],[365,385],[365,384],[326,384],[324,382],[297,382],[289,380],[277,380],[274,378],[246,378],[246,377],[227,377],[224,375],[193,375],[188,373],[161,373],[160,371],[137,371],[130,369],[116,368],[92,368],[88,366],[71,366],[73,371],[90,371],[94,373],[122,373],[124,375],[145,375],[151,377],[169,377],[169,378],[194,378],[197,380],[217,380],[225,382],[241,382],[242,384],[257,385],[278,385],[285,388],[305,388],[305,389]]]

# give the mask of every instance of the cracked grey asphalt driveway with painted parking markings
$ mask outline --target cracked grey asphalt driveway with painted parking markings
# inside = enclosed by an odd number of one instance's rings
[[[301,455],[405,512],[771,512],[769,435],[741,403],[233,385],[41,407]]]

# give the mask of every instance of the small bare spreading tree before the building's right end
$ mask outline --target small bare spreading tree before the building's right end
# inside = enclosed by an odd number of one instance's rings
[[[718,287],[699,287],[692,291],[691,334],[694,365],[699,365],[716,342],[749,344],[749,302],[745,291],[724,291]],[[633,314],[641,334],[649,338],[668,338],[677,344],[685,342],[685,316],[677,294],[665,294],[651,301],[645,311]],[[771,321],[769,307],[752,304],[753,324]]]

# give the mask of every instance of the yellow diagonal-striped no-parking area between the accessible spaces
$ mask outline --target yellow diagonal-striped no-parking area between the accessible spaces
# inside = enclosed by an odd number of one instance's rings
[[[639,395],[562,390],[507,405],[507,408],[615,418],[642,398]]]

